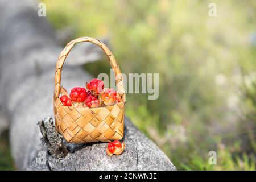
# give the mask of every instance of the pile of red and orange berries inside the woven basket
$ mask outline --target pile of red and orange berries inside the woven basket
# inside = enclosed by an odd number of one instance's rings
[[[86,90],[82,87],[75,87],[69,94],[63,94],[60,97],[60,101],[63,106],[74,107],[89,107],[95,108],[100,106],[110,106],[119,102],[117,92],[112,88],[104,89],[104,81],[97,78],[92,79],[90,82],[86,82]]]

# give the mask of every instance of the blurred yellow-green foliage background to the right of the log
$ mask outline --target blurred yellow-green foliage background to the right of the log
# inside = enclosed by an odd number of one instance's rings
[[[123,73],[159,73],[158,100],[127,94],[126,114],[177,169],[255,170],[256,88],[243,80],[255,80],[256,1],[214,1],[217,17],[211,1],[43,2],[55,28],[108,37]],[[108,61],[85,67],[109,73]]]

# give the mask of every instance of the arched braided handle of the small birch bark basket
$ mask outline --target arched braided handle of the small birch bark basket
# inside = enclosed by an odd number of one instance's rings
[[[55,69],[55,88],[54,88],[54,96],[53,96],[54,101],[56,100],[56,98],[59,98],[60,96],[61,71],[62,71],[63,64],[69,52],[71,51],[72,47],[75,45],[75,43],[79,43],[79,42],[90,42],[90,43],[96,44],[97,46],[100,46],[101,49],[105,52],[105,55],[109,59],[110,66],[114,70],[115,84],[117,84],[117,89],[118,89],[117,94],[119,98],[121,98],[121,100],[125,103],[125,89],[123,87],[123,76],[122,74],[119,74],[121,73],[121,71],[119,69],[117,60],[115,60],[114,55],[112,54],[112,52],[109,51],[109,48],[106,47],[104,43],[102,43],[98,39],[90,38],[90,37],[81,37],[81,38],[72,40],[66,45],[63,51],[60,52],[60,55],[58,57],[57,64],[56,64],[56,69]]]

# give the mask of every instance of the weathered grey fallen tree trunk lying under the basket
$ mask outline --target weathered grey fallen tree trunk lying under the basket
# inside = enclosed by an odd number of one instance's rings
[[[106,143],[82,146],[65,144],[69,150],[64,159],[42,144],[38,121],[53,116],[55,64],[61,48],[49,23],[37,15],[38,3],[32,0],[0,0],[0,104],[8,117],[11,152],[20,170],[61,169],[175,169],[163,152],[126,118],[126,151],[120,156],[106,156]],[[100,48],[82,44],[81,60],[95,61]],[[92,77],[79,67],[64,64],[61,84],[70,90],[84,86]],[[75,56],[76,57],[76,56]],[[75,58],[73,56],[73,58]],[[128,101],[129,102],[129,101]],[[48,118],[49,121],[49,118]],[[46,130],[46,132],[51,131]],[[53,154],[53,153],[54,154]]]

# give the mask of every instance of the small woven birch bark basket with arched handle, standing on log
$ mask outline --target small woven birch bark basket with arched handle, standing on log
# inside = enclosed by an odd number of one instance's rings
[[[63,106],[61,103],[61,71],[63,64],[72,47],[80,42],[96,44],[105,52],[114,71],[117,96],[121,101],[118,104],[97,108],[76,108],[73,106]],[[61,51],[55,70],[53,107],[56,130],[63,135],[67,142],[109,142],[110,140],[120,140],[123,138],[125,113],[123,77],[112,52],[100,40],[81,37],[69,42]]]

